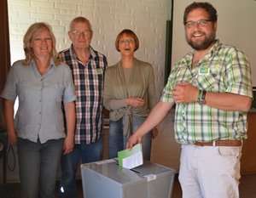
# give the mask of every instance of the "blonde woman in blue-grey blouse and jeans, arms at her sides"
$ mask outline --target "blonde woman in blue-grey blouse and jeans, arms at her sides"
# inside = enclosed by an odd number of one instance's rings
[[[1,96],[9,144],[17,144],[21,197],[54,198],[62,150],[73,150],[76,99],[72,73],[57,59],[49,25],[35,23],[24,37],[26,59],[12,65]],[[14,119],[15,99],[19,108]],[[67,135],[61,103],[64,103]]]

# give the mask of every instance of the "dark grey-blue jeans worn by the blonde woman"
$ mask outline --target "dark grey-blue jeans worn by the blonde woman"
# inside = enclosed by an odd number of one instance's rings
[[[63,139],[41,144],[18,139],[22,198],[55,198],[56,173],[61,161]]]

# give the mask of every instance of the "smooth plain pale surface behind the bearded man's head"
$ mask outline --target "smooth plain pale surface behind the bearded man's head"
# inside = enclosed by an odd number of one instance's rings
[[[183,28],[183,11],[193,0],[174,0],[172,65],[189,52]],[[199,2],[205,2],[199,0]],[[208,0],[217,9],[217,38],[240,48],[251,62],[253,86],[256,86],[256,1]]]

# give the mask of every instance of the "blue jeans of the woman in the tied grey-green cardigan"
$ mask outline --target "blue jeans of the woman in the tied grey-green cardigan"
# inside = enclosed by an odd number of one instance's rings
[[[146,120],[145,116],[132,116],[132,126],[131,131],[134,133],[138,127]],[[123,118],[118,121],[109,122],[109,136],[108,136],[108,157],[117,157],[117,153],[120,150],[125,150],[127,138],[123,135]],[[152,133],[149,132],[143,136],[143,158],[150,160],[151,153],[151,142]]]

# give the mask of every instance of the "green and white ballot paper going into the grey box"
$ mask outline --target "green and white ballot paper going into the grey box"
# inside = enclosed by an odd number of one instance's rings
[[[118,152],[118,161],[120,167],[134,168],[143,164],[142,144],[136,144],[131,150],[121,150]]]

